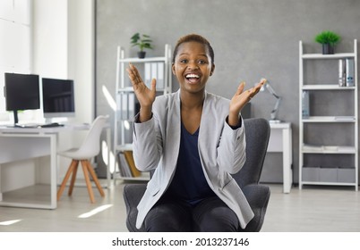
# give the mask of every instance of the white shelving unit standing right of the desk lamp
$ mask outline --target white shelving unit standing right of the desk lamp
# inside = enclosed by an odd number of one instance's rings
[[[334,64],[342,59],[354,60],[354,86],[339,85],[339,78],[323,83],[321,79],[311,80],[304,70],[306,63],[322,63],[332,60]],[[318,65],[318,64],[316,64]],[[304,185],[352,186],[358,190],[358,97],[357,97],[357,41],[354,40],[352,53],[304,54],[304,45],[299,42],[299,188]],[[339,64],[326,68],[337,72]],[[322,75],[325,77],[325,75]],[[318,78],[321,78],[321,76]],[[310,97],[309,116],[303,117],[303,93]],[[319,102],[319,95],[327,96],[328,103],[321,104],[322,111],[316,110],[312,103]],[[336,98],[340,96],[341,98]],[[319,103],[317,103],[319,105]],[[339,104],[342,110],[339,111]],[[347,107],[346,113],[344,107]],[[337,109],[338,108],[338,109]],[[330,134],[321,134],[330,129]],[[339,135],[344,139],[337,140]],[[338,136],[338,137],[337,137]],[[333,139],[331,141],[331,139]],[[335,140],[335,141],[334,141]]]

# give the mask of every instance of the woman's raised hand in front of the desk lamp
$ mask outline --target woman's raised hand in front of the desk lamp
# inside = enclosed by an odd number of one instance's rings
[[[244,105],[247,104],[253,96],[259,93],[261,87],[265,84],[266,79],[261,79],[261,81],[255,86],[251,87],[248,90],[244,91],[244,81],[240,83],[237,87],[236,93],[231,99],[229,107],[229,116],[228,123],[231,126],[236,126],[239,121],[238,113],[244,108]]]

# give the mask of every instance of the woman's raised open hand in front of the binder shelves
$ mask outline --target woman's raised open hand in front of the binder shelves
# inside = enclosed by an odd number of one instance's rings
[[[156,79],[151,80],[150,88],[142,81],[139,71],[133,64],[126,69],[133,85],[133,91],[140,103],[140,121],[148,121],[151,118],[152,104],[156,97]]]

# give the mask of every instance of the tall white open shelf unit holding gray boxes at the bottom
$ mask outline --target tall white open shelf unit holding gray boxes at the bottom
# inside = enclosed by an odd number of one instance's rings
[[[325,185],[325,186],[352,186],[355,187],[355,190],[358,190],[358,96],[357,96],[357,40],[354,39],[354,50],[350,53],[339,53],[339,54],[304,54],[303,53],[303,43],[299,42],[299,188],[301,189],[303,185]],[[323,63],[321,60],[339,60],[351,58],[354,59],[354,68],[355,68],[355,86],[354,87],[340,87],[338,82],[338,78],[330,81],[330,84],[314,84],[307,82],[304,83],[304,63],[309,60],[316,60],[314,63]],[[316,64],[318,65],[318,64]],[[331,64],[332,65],[332,64]],[[339,67],[335,69],[331,68],[329,71],[339,71]],[[337,74],[338,75],[338,74]],[[319,75],[321,78],[321,75]],[[319,80],[319,79],[316,79]],[[315,82],[316,83],[316,82]],[[303,99],[302,93],[304,91],[312,91],[310,92],[310,107],[312,107],[311,102],[312,98],[317,96],[318,92],[321,91],[350,91],[350,98],[344,98],[341,102],[346,102],[349,107],[349,111],[351,115],[324,115],[324,116],[310,116],[303,117]],[[341,94],[341,93],[340,93]],[[343,95],[343,94],[341,94]],[[347,95],[347,94],[344,94]],[[354,96],[352,96],[354,95]],[[347,95],[348,96],[348,95]],[[334,110],[338,105],[336,100],[333,98],[334,104],[330,103],[330,113],[335,112],[339,113],[339,111]],[[350,109],[351,108],[351,109]],[[329,111],[328,111],[329,112]],[[310,113],[312,111],[310,110]],[[317,112],[319,113],[319,111]],[[321,113],[320,113],[321,114]],[[348,112],[347,112],[348,114]],[[354,140],[348,142],[349,146],[339,146],[339,145],[311,145],[309,142],[312,141],[312,138],[307,136],[308,129],[311,127],[304,126],[308,123],[319,123],[317,128],[321,126],[321,129],[326,129],[326,126],[329,126],[331,123],[352,123],[351,128],[343,129],[344,126],[347,125],[339,125],[341,130],[334,129],[333,133],[338,136],[344,137],[354,137]],[[329,129],[330,127],[328,127]],[[338,128],[338,127],[337,127]],[[347,127],[346,127],[347,128]],[[332,131],[331,131],[332,132]],[[322,137],[326,137],[326,135],[321,135],[316,138],[316,141],[321,141]],[[305,140],[308,140],[306,141]],[[315,141],[314,140],[314,141]],[[333,143],[337,143],[338,141],[333,141]],[[331,143],[331,140],[330,140]],[[314,155],[310,155],[314,154]],[[323,155],[315,155],[315,154],[323,154]],[[331,157],[330,159],[326,159],[326,157]],[[340,157],[340,158],[339,158]],[[342,171],[337,168],[341,167],[342,158],[345,157],[350,165],[352,165],[352,171]],[[345,159],[344,159],[345,160]],[[323,167],[309,167],[309,165],[321,164],[324,165],[329,164],[329,162],[333,161],[333,166]],[[339,166],[337,166],[339,165]],[[304,174],[304,175],[303,175]],[[319,176],[318,176],[319,175]],[[345,179],[345,180],[344,180]],[[337,181],[338,180],[338,181]],[[348,180],[348,181],[347,181]]]

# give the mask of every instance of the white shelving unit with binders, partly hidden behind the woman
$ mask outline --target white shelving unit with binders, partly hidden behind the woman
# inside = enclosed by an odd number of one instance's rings
[[[148,180],[148,172],[142,172],[139,177],[124,176],[120,171],[118,154],[133,150],[133,117],[139,110],[139,104],[133,93],[133,87],[127,76],[126,68],[129,63],[137,67],[145,84],[150,86],[152,78],[157,79],[157,93],[164,95],[171,92],[171,46],[165,45],[164,56],[159,57],[125,57],[124,48],[117,47],[116,55],[116,112],[114,126],[114,153],[118,168],[114,179]]]

